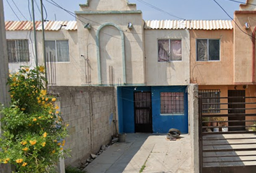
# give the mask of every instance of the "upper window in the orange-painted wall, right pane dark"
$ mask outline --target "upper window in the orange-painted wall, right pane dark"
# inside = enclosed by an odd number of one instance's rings
[[[197,39],[197,61],[219,61],[220,40]]]

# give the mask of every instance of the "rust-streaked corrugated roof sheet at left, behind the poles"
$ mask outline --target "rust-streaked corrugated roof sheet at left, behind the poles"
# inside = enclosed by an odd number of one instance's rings
[[[36,30],[42,30],[42,22],[35,22]],[[46,31],[57,30],[77,30],[76,21],[48,21],[44,22],[44,28]],[[5,29],[9,31],[14,30],[33,30],[33,22],[30,21],[7,21],[5,22]]]

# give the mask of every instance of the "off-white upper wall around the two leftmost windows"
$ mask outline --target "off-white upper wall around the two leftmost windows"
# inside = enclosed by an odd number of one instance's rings
[[[58,86],[80,86],[80,76],[85,71],[80,71],[80,55],[78,53],[77,31],[46,31],[46,40],[69,40],[69,62],[56,63],[56,84]],[[7,31],[7,39],[27,39],[29,43],[30,61],[26,63],[9,63],[11,72],[17,71],[20,66],[35,66],[35,41],[33,31]],[[42,32],[37,32],[38,65],[44,66]]]

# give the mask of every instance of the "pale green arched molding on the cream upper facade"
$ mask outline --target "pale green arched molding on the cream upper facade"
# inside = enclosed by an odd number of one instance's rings
[[[106,26],[113,26],[116,27],[117,30],[119,30],[121,35],[121,55],[122,55],[122,61],[123,61],[123,81],[124,84],[127,83],[127,74],[126,74],[126,63],[125,63],[125,48],[124,48],[124,32],[121,30],[121,27],[119,25],[116,25],[112,22],[107,22],[98,27],[98,30],[96,32],[96,44],[97,44],[97,60],[98,60],[98,83],[102,84],[101,79],[101,48],[100,48],[100,32],[103,27]]]

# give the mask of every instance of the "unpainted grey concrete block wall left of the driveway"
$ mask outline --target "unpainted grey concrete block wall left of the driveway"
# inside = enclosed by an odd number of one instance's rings
[[[65,147],[72,150],[72,157],[65,165],[77,166],[116,132],[114,87],[54,86],[49,92],[58,96],[62,117],[69,123]]]

